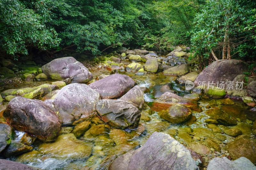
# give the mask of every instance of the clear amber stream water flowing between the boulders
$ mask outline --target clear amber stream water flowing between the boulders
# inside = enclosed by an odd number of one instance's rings
[[[92,74],[94,78],[96,78],[100,74],[110,74],[110,71],[101,69],[99,71],[92,71]],[[80,137],[75,139],[74,136],[66,134],[66,136],[62,135],[63,138],[58,138],[56,142],[50,144],[44,144],[37,140],[32,145],[33,151],[8,159],[47,170],[78,170],[83,167],[83,169],[92,170],[108,169],[108,166],[116,157],[129,150],[142,146],[154,131],[170,134],[184,145],[188,142],[195,141],[193,136],[188,133],[190,128],[194,129],[201,127],[211,130],[211,127],[204,121],[209,118],[205,112],[209,109],[209,106],[216,108],[223,106],[221,100],[209,99],[208,97],[203,96],[199,101],[199,105],[202,107],[203,112],[197,113],[193,111],[191,120],[180,124],[171,124],[161,119],[157,112],[150,110],[148,105],[154,101],[154,92],[159,91],[162,85],[169,85],[172,90],[180,96],[189,93],[185,90],[184,85],[180,85],[176,82],[177,77],[166,76],[162,73],[135,75],[134,73],[122,72],[121,74],[130,76],[140,87],[147,87],[150,89],[150,93],[144,94],[145,104],[141,111],[141,114],[148,120],[145,118],[143,118],[143,120],[141,119],[137,129],[126,129],[125,131],[117,133],[116,136],[114,136],[115,143],[107,140],[109,139],[110,132],[103,135],[107,139],[102,139],[99,136],[91,136],[90,138]],[[40,82],[40,84],[45,82],[47,83],[50,81]],[[31,83],[34,82],[31,81]],[[35,84],[32,86],[34,85]],[[22,84],[20,85],[20,88],[21,86]],[[28,84],[25,84],[24,86],[28,86]],[[234,105],[241,108],[250,109],[243,102],[234,101],[234,103]],[[241,121],[241,123],[250,126],[252,125],[252,121],[249,120]],[[70,127],[73,128],[74,126]],[[18,136],[16,140],[19,141],[24,133],[19,131],[16,131],[16,133]],[[228,142],[234,140],[234,137],[223,133],[220,133],[219,135],[222,135],[223,137],[225,136],[225,140],[220,144],[221,149],[223,149]],[[255,138],[255,136],[252,135],[252,138]],[[199,142],[204,142],[204,139],[200,139]],[[204,165],[207,165],[208,161],[215,156],[214,153],[206,155],[204,157]]]

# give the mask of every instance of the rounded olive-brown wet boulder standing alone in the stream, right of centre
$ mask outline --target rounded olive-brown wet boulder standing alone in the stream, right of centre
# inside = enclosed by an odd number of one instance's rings
[[[188,120],[192,116],[192,111],[185,105],[174,104],[166,110],[158,113],[160,117],[172,123],[180,123]]]

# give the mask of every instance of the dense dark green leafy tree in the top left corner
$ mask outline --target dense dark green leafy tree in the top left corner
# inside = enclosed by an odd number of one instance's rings
[[[49,13],[42,3],[36,2],[35,9],[27,9],[18,0],[0,0],[0,49],[7,54],[28,54],[28,46],[41,50],[58,46],[57,32],[46,27]]]

